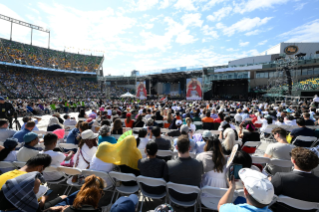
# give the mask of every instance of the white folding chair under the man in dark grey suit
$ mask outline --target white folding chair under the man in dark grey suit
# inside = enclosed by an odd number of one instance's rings
[[[197,194],[197,198],[193,201],[189,202],[184,202],[184,201],[179,201],[177,199],[174,199],[170,194],[169,190],[172,189],[178,193],[181,194]],[[184,206],[184,207],[192,207],[194,206],[194,212],[197,210],[196,204],[198,203],[199,196],[201,195],[201,191],[197,186],[191,186],[191,185],[183,185],[183,184],[177,184],[177,183],[172,183],[168,182],[166,184],[166,191],[169,197],[169,203],[172,204],[172,202],[176,205]]]

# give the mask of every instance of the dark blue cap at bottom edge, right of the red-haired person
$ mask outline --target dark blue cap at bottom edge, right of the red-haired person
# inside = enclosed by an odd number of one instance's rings
[[[138,197],[131,194],[128,197],[120,197],[112,205],[110,212],[135,212],[135,207],[138,203]]]

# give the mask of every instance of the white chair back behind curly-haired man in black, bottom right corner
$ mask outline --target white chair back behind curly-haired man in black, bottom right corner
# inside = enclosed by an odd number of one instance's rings
[[[281,202],[290,207],[305,211],[319,209],[319,203],[317,202],[307,202],[299,199],[294,199],[285,195],[279,195],[278,197],[276,197],[276,202]]]

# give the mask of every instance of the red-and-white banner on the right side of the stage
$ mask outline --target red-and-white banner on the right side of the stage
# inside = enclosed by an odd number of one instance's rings
[[[202,78],[186,79],[186,99],[187,100],[202,100]]]

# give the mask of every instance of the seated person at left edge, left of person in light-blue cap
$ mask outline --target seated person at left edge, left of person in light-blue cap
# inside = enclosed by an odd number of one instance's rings
[[[15,148],[19,144],[16,138],[7,138],[3,143],[4,149],[0,150],[0,161],[17,161],[17,151]],[[1,168],[0,173],[11,171],[12,168]]]

